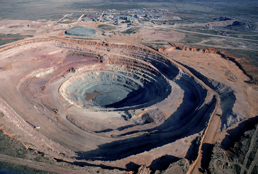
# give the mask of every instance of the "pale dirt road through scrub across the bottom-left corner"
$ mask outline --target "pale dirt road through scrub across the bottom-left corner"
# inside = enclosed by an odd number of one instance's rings
[[[3,155],[0,154],[0,161],[1,162],[7,162],[7,163],[13,163],[17,165],[24,165],[28,167],[32,167],[35,169],[39,170],[45,170],[45,171],[50,171],[50,172],[57,172],[57,173],[63,173],[63,174],[80,174],[80,173],[86,173],[86,174],[92,174],[89,171],[77,171],[77,170],[71,170],[71,169],[65,169],[62,167],[50,165],[47,163],[42,163],[42,162],[37,162],[37,161],[32,161],[28,159],[21,159],[21,158],[16,158],[16,157],[11,157],[8,155]]]

